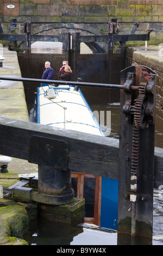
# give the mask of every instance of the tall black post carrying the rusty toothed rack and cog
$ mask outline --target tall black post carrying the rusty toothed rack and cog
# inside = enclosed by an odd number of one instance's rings
[[[118,232],[152,238],[156,75],[129,67],[121,84]]]

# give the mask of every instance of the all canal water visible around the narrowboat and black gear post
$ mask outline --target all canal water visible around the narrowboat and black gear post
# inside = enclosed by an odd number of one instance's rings
[[[101,120],[101,127],[106,133],[106,136],[119,138],[120,129],[120,103],[92,105],[91,109],[94,113],[104,111],[105,115]],[[110,124],[106,120],[106,111],[111,114],[111,130]],[[102,112],[103,113],[103,112]],[[97,118],[99,115],[97,115]],[[109,129],[108,129],[109,126]],[[108,135],[109,134],[109,135]],[[162,147],[163,131],[155,131],[155,146]],[[160,190],[154,190],[153,203],[153,245],[163,245],[163,194]],[[24,235],[29,245],[150,245],[151,240],[146,237],[130,237],[128,234],[121,234],[118,237],[117,233],[112,233],[111,230],[101,230],[92,224],[85,224],[85,227],[73,227],[66,223],[55,223],[50,221],[41,221],[30,223],[29,231]],[[67,247],[68,248],[68,247]]]

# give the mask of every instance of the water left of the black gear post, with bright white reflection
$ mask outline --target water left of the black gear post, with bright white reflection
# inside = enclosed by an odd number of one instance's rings
[[[93,227],[93,225],[92,225]],[[37,219],[23,239],[29,245],[117,245],[117,233]]]

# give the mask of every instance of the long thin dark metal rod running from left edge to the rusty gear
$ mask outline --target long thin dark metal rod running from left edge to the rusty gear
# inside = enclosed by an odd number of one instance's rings
[[[0,80],[9,80],[9,81],[21,81],[21,82],[36,82],[37,84],[57,84],[57,85],[78,85],[78,86],[92,86],[92,87],[105,87],[105,88],[116,88],[123,89],[123,85],[114,85],[114,84],[97,84],[90,82],[73,82],[73,81],[60,81],[60,80],[43,80],[43,79],[32,79],[32,78],[9,78],[0,76]]]

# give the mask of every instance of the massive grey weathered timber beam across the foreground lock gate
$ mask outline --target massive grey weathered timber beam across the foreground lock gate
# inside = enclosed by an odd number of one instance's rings
[[[0,154],[28,160],[33,136],[66,141],[67,168],[118,180],[119,140],[0,117]],[[155,147],[156,189],[163,184],[162,170],[163,148]]]

